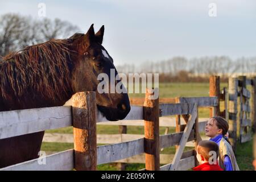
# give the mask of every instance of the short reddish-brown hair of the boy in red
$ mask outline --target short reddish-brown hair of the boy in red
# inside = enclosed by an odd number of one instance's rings
[[[211,157],[211,155],[209,155],[210,151],[216,152],[216,156],[218,157],[218,154],[219,154],[218,144],[210,140],[201,140],[198,143],[197,153],[200,155],[203,155],[204,159],[207,161]]]

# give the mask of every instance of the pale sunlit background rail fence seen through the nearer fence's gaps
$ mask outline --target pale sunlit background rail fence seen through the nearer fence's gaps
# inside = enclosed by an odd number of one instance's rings
[[[164,99],[162,101],[176,101],[177,103],[192,103],[197,104],[200,107],[217,107],[218,106],[218,98],[217,97],[177,97],[174,99]],[[131,101],[134,103],[134,101]],[[141,105],[141,102],[137,101],[137,104]],[[163,104],[163,103],[162,103]],[[170,103],[169,103],[170,104]],[[173,103],[175,104],[175,103]],[[183,115],[184,118],[185,115]],[[177,121],[176,118],[179,118]],[[176,132],[184,131],[186,123],[188,120],[181,118],[180,115],[176,115],[175,117],[160,117],[159,118],[159,127],[166,127],[166,133],[168,134],[169,127],[176,127]],[[205,125],[207,123],[208,118],[199,118],[198,119],[198,130],[199,132],[204,132]],[[143,138],[144,135],[140,134],[127,134],[127,126],[144,126],[143,120],[121,120],[117,122],[100,122],[97,125],[112,125],[119,126],[121,130],[119,134],[97,134],[97,143],[101,144],[114,144],[120,142],[128,142],[130,140],[136,140]],[[120,130],[119,130],[120,131]],[[206,138],[204,138],[206,139]],[[208,138],[207,138],[208,139]],[[61,142],[61,143],[73,143],[73,134],[57,134],[57,133],[46,133],[44,136],[44,142]],[[185,144],[185,146],[195,147],[195,140],[191,140]],[[163,150],[163,148],[161,148]],[[174,158],[173,154],[160,154],[160,164],[168,164]],[[114,163],[118,163],[118,168],[121,170],[125,169],[126,163],[145,163],[145,154],[139,154],[135,156],[131,156],[130,158],[116,160]]]

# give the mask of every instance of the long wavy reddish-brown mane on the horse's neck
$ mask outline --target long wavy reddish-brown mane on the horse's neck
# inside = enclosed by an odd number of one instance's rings
[[[71,93],[71,42],[72,39],[49,40],[2,57],[2,97],[19,98],[28,91],[52,100],[67,97]]]

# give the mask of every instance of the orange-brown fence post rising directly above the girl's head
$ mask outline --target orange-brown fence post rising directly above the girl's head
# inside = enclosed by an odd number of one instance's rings
[[[218,97],[218,105],[210,107],[210,118],[214,115],[220,115],[220,76],[210,76],[209,80],[209,96]]]

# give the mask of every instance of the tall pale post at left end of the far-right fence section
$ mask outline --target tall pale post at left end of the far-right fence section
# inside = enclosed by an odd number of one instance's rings
[[[237,92],[238,80],[237,78],[229,77],[229,140],[236,151],[237,142]]]

